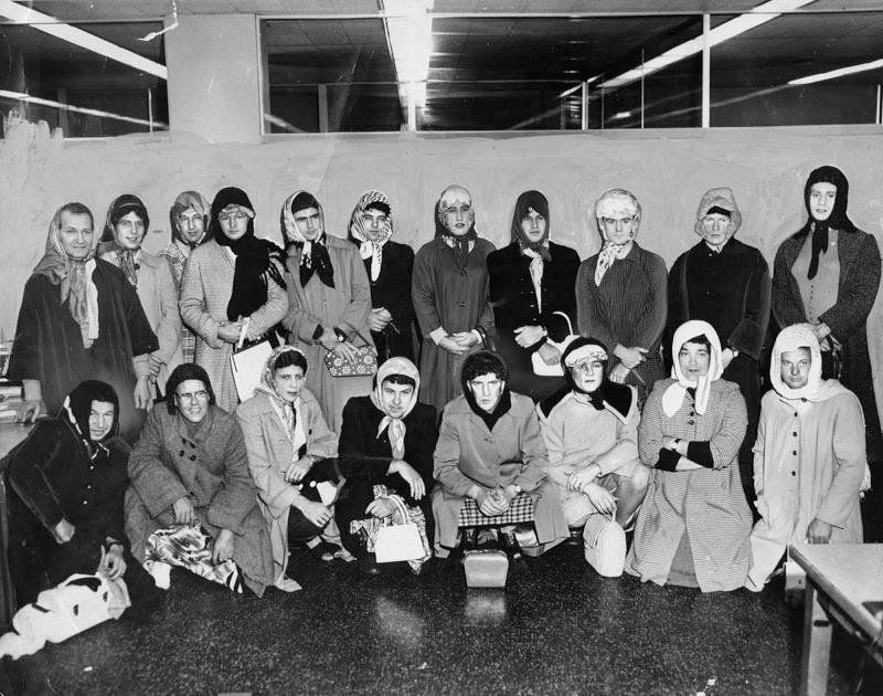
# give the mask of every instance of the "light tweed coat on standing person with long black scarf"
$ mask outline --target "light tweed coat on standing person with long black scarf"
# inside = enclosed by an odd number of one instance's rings
[[[230,358],[233,344],[217,337],[217,327],[227,321],[227,303],[233,293],[234,257],[214,240],[193,250],[181,277],[181,318],[196,335],[196,365],[212,381],[217,405],[233,412],[240,402]],[[288,308],[288,296],[273,278],[267,278],[267,303],[252,314],[248,339],[259,338],[276,326]]]

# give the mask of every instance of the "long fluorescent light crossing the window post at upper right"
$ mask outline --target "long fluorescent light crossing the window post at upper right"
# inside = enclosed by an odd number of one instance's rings
[[[730,39],[745,33],[755,27],[759,27],[760,24],[765,24],[766,22],[776,19],[783,12],[796,10],[813,1],[815,0],[769,0],[769,2],[758,4],[748,12],[740,14],[737,18],[710,30],[709,46],[716,46],[719,43],[728,41]],[[642,65],[627,71],[611,80],[603,82],[600,86],[609,89],[613,87],[623,87],[631,84],[641,77],[646,77],[647,75],[651,75],[652,73],[662,70],[663,67],[668,67],[672,63],[677,63],[685,57],[701,53],[704,43],[704,38],[702,35],[699,35],[695,39],[690,39],[689,41],[684,41],[673,49],[670,49],[669,51],[666,51],[664,53],[646,61]]]

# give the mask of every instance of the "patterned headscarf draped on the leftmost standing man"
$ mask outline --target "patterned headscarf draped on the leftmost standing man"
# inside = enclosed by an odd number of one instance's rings
[[[83,347],[88,349],[98,338],[98,288],[92,280],[95,271],[95,253],[98,249],[98,235],[93,231],[92,245],[83,259],[71,259],[62,246],[62,214],[88,214],[88,208],[82,203],[67,203],[55,211],[49,225],[46,250],[40,263],[34,267],[34,275],[45,275],[52,285],[61,286],[58,302],[67,303],[67,310],[79,326]],[[94,222],[94,219],[93,219]]]

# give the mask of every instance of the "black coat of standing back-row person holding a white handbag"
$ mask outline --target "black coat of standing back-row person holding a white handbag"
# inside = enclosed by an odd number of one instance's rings
[[[556,312],[566,314],[576,331],[576,270],[579,255],[570,246],[549,243],[551,261],[545,264],[542,310],[531,281],[531,260],[521,253],[517,243],[488,254],[489,299],[493,306],[497,327],[497,351],[509,367],[509,388],[534,400],[554,393],[564,386],[564,378],[539,377],[533,373],[531,355],[544,341],[529,348],[515,342],[514,330],[521,326],[542,326],[552,340],[562,340],[570,333],[567,321]]]

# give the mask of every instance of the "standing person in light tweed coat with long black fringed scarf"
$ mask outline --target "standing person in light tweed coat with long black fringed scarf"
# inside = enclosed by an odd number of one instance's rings
[[[241,189],[221,189],[209,212],[208,241],[194,249],[181,277],[178,307],[196,335],[195,361],[205,368],[217,405],[240,402],[230,358],[241,345],[269,340],[288,309],[283,251],[255,236],[255,211]]]

